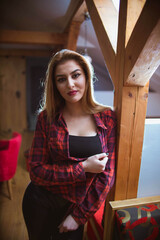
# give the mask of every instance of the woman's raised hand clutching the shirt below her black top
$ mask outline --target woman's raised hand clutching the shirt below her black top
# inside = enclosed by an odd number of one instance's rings
[[[87,158],[82,165],[85,172],[101,173],[105,170],[108,161],[106,153],[100,153]]]

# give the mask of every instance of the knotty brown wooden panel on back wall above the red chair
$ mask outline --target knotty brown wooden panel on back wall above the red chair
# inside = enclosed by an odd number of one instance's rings
[[[0,131],[23,131],[26,118],[26,65],[22,57],[0,57]]]

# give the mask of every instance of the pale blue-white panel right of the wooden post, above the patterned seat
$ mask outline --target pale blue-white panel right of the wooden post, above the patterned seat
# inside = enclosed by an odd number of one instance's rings
[[[146,119],[137,197],[160,195],[160,119]]]

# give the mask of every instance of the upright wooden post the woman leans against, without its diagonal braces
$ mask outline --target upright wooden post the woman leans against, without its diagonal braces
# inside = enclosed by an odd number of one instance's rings
[[[137,196],[148,86],[124,86],[127,0],[122,0],[116,56],[114,106],[118,118],[115,200]]]

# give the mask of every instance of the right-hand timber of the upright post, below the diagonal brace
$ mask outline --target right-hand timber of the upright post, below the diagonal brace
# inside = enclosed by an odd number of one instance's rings
[[[135,88],[135,87],[134,87]],[[146,119],[149,83],[145,87],[136,87],[133,112],[133,127],[129,152],[129,175],[127,181],[127,198],[137,197],[139,172],[141,166],[144,127]]]

